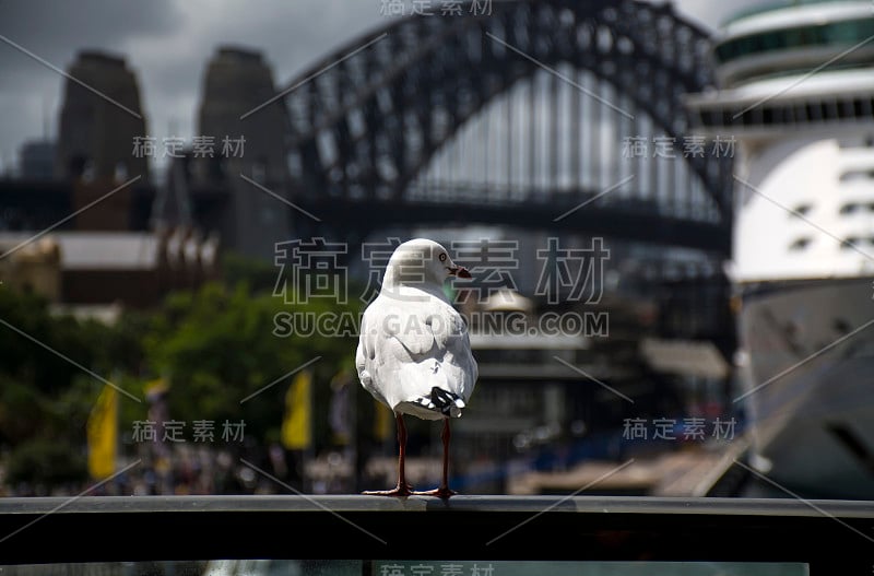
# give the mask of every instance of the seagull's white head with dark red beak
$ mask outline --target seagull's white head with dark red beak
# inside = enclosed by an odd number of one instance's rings
[[[394,249],[382,285],[441,285],[448,277],[471,278],[471,273],[463,266],[456,265],[440,244],[414,238]]]

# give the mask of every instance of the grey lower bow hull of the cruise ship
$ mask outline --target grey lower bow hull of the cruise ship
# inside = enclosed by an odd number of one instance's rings
[[[753,461],[804,497],[874,499],[872,281],[744,286]]]

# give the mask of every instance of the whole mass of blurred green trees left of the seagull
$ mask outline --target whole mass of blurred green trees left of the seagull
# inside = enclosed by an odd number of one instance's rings
[[[315,358],[314,437],[329,445],[330,381],[354,372],[359,303],[291,306],[273,296],[273,269],[234,257],[225,268],[224,282],[174,293],[152,310],[126,310],[110,326],[52,314],[44,298],[0,286],[0,452],[9,455],[0,463],[8,478],[84,481],[86,423],[105,380],[143,400],[119,396],[122,436],[147,415],[146,384],[166,377],[169,416],[189,432],[194,421],[212,420],[217,436],[220,422],[243,420],[247,438],[275,442],[288,373]],[[287,333],[277,319],[288,315],[345,321],[329,333]]]

